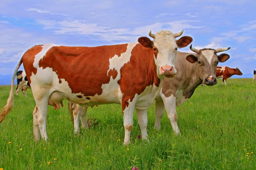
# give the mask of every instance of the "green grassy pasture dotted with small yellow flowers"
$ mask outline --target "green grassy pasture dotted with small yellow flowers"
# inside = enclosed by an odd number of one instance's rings
[[[35,101],[15,95],[12,112],[0,124],[0,168],[4,170],[195,170],[256,169],[256,82],[221,79],[212,87],[198,87],[192,98],[177,108],[176,136],[165,113],[161,130],[154,130],[154,105],[148,109],[148,138],[138,139],[140,127],[134,113],[131,144],[123,146],[121,105],[89,108],[95,125],[73,134],[67,109],[49,106],[49,141],[33,140]],[[10,86],[0,86],[0,107]]]

